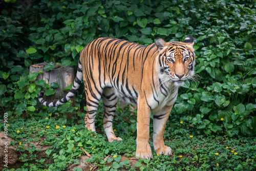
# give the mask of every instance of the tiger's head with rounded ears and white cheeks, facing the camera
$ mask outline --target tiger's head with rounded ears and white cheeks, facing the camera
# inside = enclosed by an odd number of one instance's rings
[[[159,78],[161,83],[174,83],[183,86],[187,79],[193,79],[195,67],[194,38],[188,35],[183,42],[165,42],[156,39],[159,51]]]

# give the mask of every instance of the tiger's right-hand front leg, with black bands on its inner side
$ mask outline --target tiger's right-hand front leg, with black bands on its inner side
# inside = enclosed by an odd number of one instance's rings
[[[153,134],[153,145],[154,150],[157,154],[172,155],[172,149],[164,145],[163,135],[165,125],[172,111],[173,105],[165,106],[161,111],[154,113],[154,134]]]

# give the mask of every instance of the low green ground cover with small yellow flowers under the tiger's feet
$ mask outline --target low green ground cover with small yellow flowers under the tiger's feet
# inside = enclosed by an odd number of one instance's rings
[[[68,123],[63,124],[62,120],[55,118],[13,120],[8,127],[8,134],[15,139],[15,142],[10,145],[18,145],[17,151],[22,154],[20,159],[24,162],[23,168],[17,170],[65,170],[71,164],[78,164],[77,159],[81,155],[86,155],[85,152],[92,156],[87,162],[97,166],[98,170],[121,168],[125,170],[254,170],[256,168],[255,138],[199,135],[189,125],[182,125],[174,132],[169,132],[167,125],[165,144],[173,149],[172,156],[158,155],[153,151],[154,159],[135,160],[135,165],[131,165],[130,159],[135,157],[136,151],[136,132],[119,129],[123,127],[123,123],[129,123],[129,119],[131,120],[128,117],[127,120],[121,119],[122,116],[116,116],[114,127],[116,127],[116,135],[123,140],[112,143],[107,141],[102,130],[99,129],[101,123],[97,125],[97,133],[92,133],[85,129],[84,124],[72,126]],[[50,146],[45,153],[51,162],[46,162],[48,158],[37,159],[39,150],[35,148],[35,144],[38,142],[40,146]],[[152,137],[150,144],[153,148]],[[112,158],[106,160],[108,156]],[[124,161],[121,160],[123,156],[127,157]]]

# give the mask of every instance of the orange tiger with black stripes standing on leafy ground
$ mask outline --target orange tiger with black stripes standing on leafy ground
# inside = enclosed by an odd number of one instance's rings
[[[152,159],[149,144],[150,119],[153,112],[153,146],[156,154],[172,155],[164,144],[167,119],[178,96],[179,87],[193,78],[195,67],[194,37],[184,41],[166,42],[156,38],[152,45],[100,37],[89,42],[81,51],[76,78],[70,92],[59,101],[45,106],[59,106],[70,100],[83,79],[87,113],[84,118],[88,130],[95,132],[95,118],[99,101],[103,101],[103,128],[109,142],[121,141],[113,131],[113,117],[117,97],[135,103],[137,109],[136,158]]]

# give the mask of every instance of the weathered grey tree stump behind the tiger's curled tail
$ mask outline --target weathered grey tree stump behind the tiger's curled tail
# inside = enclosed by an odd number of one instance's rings
[[[59,84],[59,87],[56,89],[56,93],[51,96],[47,96],[45,98],[46,101],[55,101],[57,99],[61,99],[63,96],[68,94],[67,92],[63,92],[62,90],[66,87],[70,86],[75,79],[75,71],[72,67],[61,67],[56,66],[51,71],[45,71],[44,67],[47,63],[38,63],[35,65],[31,65],[29,68],[29,73],[44,71],[44,73],[39,73],[37,80],[45,80],[46,83],[51,84],[56,82]]]

